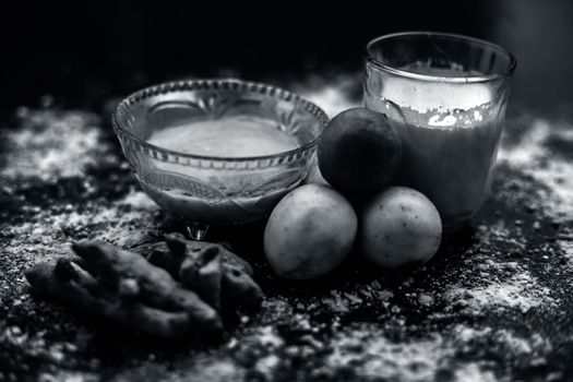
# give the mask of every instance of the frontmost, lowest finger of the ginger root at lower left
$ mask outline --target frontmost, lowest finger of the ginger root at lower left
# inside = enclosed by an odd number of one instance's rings
[[[189,332],[186,312],[166,312],[138,302],[126,306],[121,298],[106,291],[87,272],[65,259],[40,263],[25,275],[39,293],[117,324],[164,338],[177,338]]]

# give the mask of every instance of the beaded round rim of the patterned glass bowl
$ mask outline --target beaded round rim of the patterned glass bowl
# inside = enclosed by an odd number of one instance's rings
[[[278,98],[285,102],[299,104],[297,106],[302,107],[306,111],[311,112],[319,122],[322,124],[322,131],[310,142],[303,144],[302,146],[299,146],[297,148],[293,148],[286,152],[277,153],[277,154],[271,154],[271,155],[259,155],[259,156],[240,156],[240,157],[232,157],[232,156],[206,156],[206,155],[198,155],[198,154],[190,154],[190,153],[182,153],[160,146],[156,146],[154,144],[151,144],[138,135],[133,134],[131,131],[129,131],[126,127],[122,126],[120,121],[120,115],[128,112],[129,108],[140,102],[142,102],[145,98],[157,96],[160,94],[166,93],[172,93],[172,92],[195,92],[195,91],[204,91],[207,88],[216,89],[219,92],[229,92],[231,89],[225,88],[225,86],[229,85],[237,85],[238,87],[232,89],[235,92],[241,92],[241,93],[262,93],[270,97]],[[157,85],[144,87],[138,92],[134,92],[123,98],[119,105],[116,107],[116,111],[114,112],[111,117],[111,121],[114,124],[114,128],[117,130],[117,132],[127,135],[130,140],[136,142],[139,145],[154,150],[157,152],[166,153],[169,155],[174,155],[177,157],[182,158],[189,158],[189,159],[198,159],[198,160],[216,160],[216,162],[251,162],[251,160],[265,160],[265,159],[275,159],[280,157],[288,157],[291,155],[296,155],[299,153],[303,153],[313,146],[317,145],[319,139],[322,135],[322,132],[324,131],[324,128],[329,123],[329,117],[322,110],[319,106],[311,103],[308,99],[302,98],[300,95],[286,91],[282,87],[261,83],[261,82],[251,82],[251,81],[243,81],[243,80],[237,80],[237,79],[203,79],[203,80],[183,80],[183,81],[171,81],[171,82],[164,82]]]

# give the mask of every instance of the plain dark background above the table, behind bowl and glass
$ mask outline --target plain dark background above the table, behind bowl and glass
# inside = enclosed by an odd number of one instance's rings
[[[98,105],[190,76],[335,81],[359,73],[369,39],[407,29],[466,34],[514,52],[513,103],[554,110],[573,100],[569,0],[4,1],[0,15],[4,111],[45,94]]]

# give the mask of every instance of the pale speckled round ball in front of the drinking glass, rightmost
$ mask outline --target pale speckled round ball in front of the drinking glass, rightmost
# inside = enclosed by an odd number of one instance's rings
[[[391,187],[368,201],[360,214],[358,247],[371,262],[385,268],[426,263],[442,240],[442,220],[420,192]]]

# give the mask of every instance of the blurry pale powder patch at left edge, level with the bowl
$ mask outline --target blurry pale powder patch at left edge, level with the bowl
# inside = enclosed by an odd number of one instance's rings
[[[99,117],[83,111],[28,110],[19,112],[21,129],[8,131],[8,178],[39,178],[44,181],[82,174],[108,147],[100,144]]]

